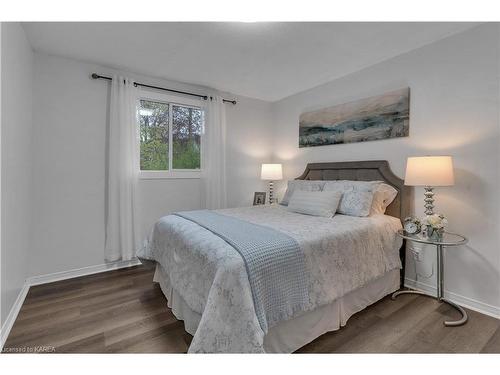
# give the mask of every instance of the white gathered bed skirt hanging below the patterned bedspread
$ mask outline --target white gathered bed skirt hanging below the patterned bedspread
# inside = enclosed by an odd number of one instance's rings
[[[264,337],[266,353],[292,353],[324,333],[345,326],[352,315],[398,290],[399,272],[399,269],[389,271],[328,305],[272,327]],[[201,315],[189,308],[182,296],[171,287],[169,277],[159,264],[156,265],[153,281],[160,285],[174,316],[183,320],[186,332],[194,336]]]

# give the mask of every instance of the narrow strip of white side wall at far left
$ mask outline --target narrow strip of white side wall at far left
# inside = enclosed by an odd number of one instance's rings
[[[2,23],[1,323],[28,273],[32,214],[33,53],[18,23]]]

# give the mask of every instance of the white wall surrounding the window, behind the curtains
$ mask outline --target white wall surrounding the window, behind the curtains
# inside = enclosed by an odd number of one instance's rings
[[[92,72],[114,73],[102,66],[35,53],[35,220],[30,275],[104,263],[109,83],[90,79]],[[208,92],[203,87],[128,75],[158,86]],[[251,204],[253,190],[261,186],[260,162],[270,157],[269,104],[237,99],[238,105],[226,107],[232,206]],[[141,180],[139,208],[142,232],[146,234],[163,215],[200,208],[200,182]]]

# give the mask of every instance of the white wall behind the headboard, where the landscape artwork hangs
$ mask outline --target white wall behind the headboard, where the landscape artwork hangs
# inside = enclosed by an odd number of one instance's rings
[[[498,38],[497,25],[480,26],[285,98],[273,106],[273,149],[287,178],[307,162],[374,159],[388,160],[403,177],[407,156],[453,155],[456,185],[436,189],[436,211],[470,242],[447,252],[446,289],[500,314]],[[298,148],[300,113],[408,86],[409,137]],[[418,215],[422,206],[423,191],[416,189]],[[424,257],[419,272],[428,274],[435,252]],[[410,260],[409,278],[413,267]]]

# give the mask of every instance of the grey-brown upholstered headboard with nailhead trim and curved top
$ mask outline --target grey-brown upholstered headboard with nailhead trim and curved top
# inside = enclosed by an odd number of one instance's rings
[[[304,173],[296,179],[384,181],[398,191],[385,213],[401,220],[410,215],[413,189],[405,186],[404,181],[391,171],[387,160],[309,163]]]

